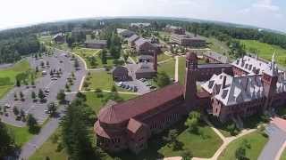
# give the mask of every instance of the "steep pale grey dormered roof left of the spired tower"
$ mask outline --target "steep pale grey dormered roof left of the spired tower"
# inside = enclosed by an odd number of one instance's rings
[[[257,75],[233,77],[222,73],[212,76],[202,87],[206,92],[214,94],[214,98],[225,106],[257,100],[264,96],[262,78]]]

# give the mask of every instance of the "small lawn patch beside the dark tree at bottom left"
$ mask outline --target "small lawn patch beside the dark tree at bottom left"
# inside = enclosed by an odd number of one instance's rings
[[[5,124],[13,135],[15,142],[20,147],[32,138],[33,134],[29,133],[28,127],[15,127],[13,125]]]

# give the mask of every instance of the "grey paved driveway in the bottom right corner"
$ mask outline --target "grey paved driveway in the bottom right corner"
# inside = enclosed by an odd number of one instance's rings
[[[286,140],[286,132],[283,132],[280,128],[274,124],[269,124],[266,127],[265,132],[269,136],[269,140],[263,148],[258,160],[272,160],[278,154],[284,141]]]

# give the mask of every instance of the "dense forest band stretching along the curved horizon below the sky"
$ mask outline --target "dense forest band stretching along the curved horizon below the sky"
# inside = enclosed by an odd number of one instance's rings
[[[252,39],[266,44],[279,45],[286,49],[286,35],[259,30],[257,28],[239,28],[235,25],[224,25],[214,22],[193,22],[184,20],[151,20],[151,19],[105,19],[105,20],[69,20],[53,23],[43,23],[26,28],[13,28],[0,32],[0,64],[20,60],[33,52],[43,52],[45,48],[38,42],[37,36],[41,34],[55,35],[59,32],[71,32],[74,28],[101,29],[106,26],[112,28],[128,28],[131,22],[150,22],[156,30],[164,28],[167,24],[181,26],[187,31],[201,36],[214,36],[220,41],[232,46],[239,46],[235,39]],[[111,37],[109,35],[109,37]],[[67,41],[76,42],[75,37],[68,36]],[[110,42],[110,39],[107,38]],[[116,38],[115,38],[116,39]],[[115,48],[115,47],[112,47]],[[241,49],[240,49],[241,50]]]

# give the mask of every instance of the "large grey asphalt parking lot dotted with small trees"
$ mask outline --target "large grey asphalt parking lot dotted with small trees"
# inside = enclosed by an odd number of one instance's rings
[[[35,86],[30,85],[22,85],[21,87],[15,87],[11,92],[4,97],[3,100],[0,100],[0,105],[5,106],[8,105],[10,108],[7,108],[7,115],[2,116],[1,119],[7,124],[13,124],[16,126],[24,126],[25,123],[21,121],[15,120],[15,116],[13,114],[13,107],[17,107],[22,109],[25,114],[32,114],[36,117],[39,124],[43,124],[48,114],[46,113],[47,104],[50,102],[56,101],[56,95],[60,90],[65,89],[65,84],[67,84],[67,78],[71,77],[71,72],[74,72],[74,80],[73,84],[70,87],[71,92],[78,92],[79,86],[81,82],[81,78],[86,74],[86,70],[83,68],[83,64],[80,62],[80,69],[76,70],[74,68],[74,62],[71,60],[70,54],[65,52],[55,52],[53,56],[43,56],[41,59],[35,58],[27,58],[29,60],[31,68],[38,67],[40,70],[43,69],[44,73],[46,72],[45,76],[39,77],[36,82]],[[42,61],[46,64],[46,61],[49,63],[49,67],[42,68],[41,63]],[[60,77],[52,78],[50,76],[51,70],[58,71],[61,69],[62,73]],[[42,71],[42,70],[41,70]],[[38,95],[38,90],[41,89],[43,91],[47,91],[46,93],[46,101],[40,102],[34,101],[31,98],[31,92],[36,92]],[[14,100],[14,93],[22,92],[24,95],[25,100]],[[68,96],[74,96],[69,94]],[[71,100],[72,97],[67,97],[67,100]]]

